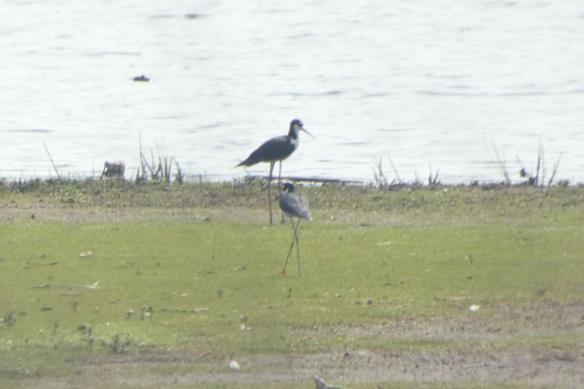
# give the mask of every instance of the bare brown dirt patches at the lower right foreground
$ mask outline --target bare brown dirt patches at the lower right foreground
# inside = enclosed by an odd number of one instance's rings
[[[481,307],[481,310],[483,308]],[[235,358],[239,370],[227,367],[228,359],[217,360],[208,355],[192,355],[182,349],[165,353],[112,355],[102,359],[77,362],[80,375],[97,373],[101,377],[116,377],[111,384],[131,387],[165,387],[168,384],[197,387],[197,383],[214,382],[230,386],[246,383],[261,387],[269,384],[300,384],[314,387],[315,375],[329,384],[350,388],[358,383],[460,382],[510,383],[520,381],[527,386],[584,387],[584,345],[566,344],[552,348],[523,346],[496,347],[498,339],[532,334],[584,334],[584,302],[570,304],[538,304],[531,306],[484,307],[488,316],[464,318],[416,318],[394,321],[383,326],[355,326],[343,328],[310,328],[303,331],[312,335],[376,335],[383,338],[442,338],[453,341],[485,342],[485,348],[460,346],[440,351],[413,351],[391,349],[367,351],[347,349],[334,353],[314,355],[259,355]],[[505,318],[511,327],[497,325]],[[133,367],[181,365],[177,374],[128,374]],[[188,373],[188,366],[193,372]],[[186,368],[185,368],[186,366]],[[196,372],[194,372],[196,371]],[[187,372],[187,373],[185,373]],[[200,373],[203,372],[203,373]],[[100,374],[101,373],[101,374]],[[75,379],[53,382],[62,386]],[[380,384],[377,384],[380,383]],[[46,384],[46,383],[45,383]],[[387,386],[390,387],[390,386]],[[427,387],[427,386],[424,386]]]

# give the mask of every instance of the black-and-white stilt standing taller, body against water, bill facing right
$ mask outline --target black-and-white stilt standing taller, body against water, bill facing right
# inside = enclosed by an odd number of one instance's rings
[[[290,131],[288,135],[276,136],[264,142],[259,148],[254,150],[246,160],[239,163],[237,166],[252,166],[260,162],[270,163],[270,176],[267,183],[267,197],[270,203],[270,224],[272,224],[272,192],[270,185],[272,184],[272,171],[274,164],[280,162],[280,172],[278,173],[278,181],[282,174],[282,161],[289,157],[294,150],[298,148],[298,134],[300,131],[306,132],[312,136],[310,132],[306,131],[300,120],[294,119],[290,122]],[[314,138],[314,136],[312,136]],[[235,166],[235,167],[237,167]]]

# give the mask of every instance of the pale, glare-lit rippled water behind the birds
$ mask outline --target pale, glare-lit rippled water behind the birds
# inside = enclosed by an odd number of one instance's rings
[[[63,176],[130,177],[141,144],[231,180],[300,118],[285,175],[500,181],[497,150],[518,182],[541,145],[584,181],[584,3],[282,4],[0,0],[0,177],[54,176],[43,143]]]

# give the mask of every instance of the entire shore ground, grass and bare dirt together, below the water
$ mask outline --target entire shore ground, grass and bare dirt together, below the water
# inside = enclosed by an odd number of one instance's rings
[[[2,181],[0,387],[584,386],[584,187],[297,190]]]

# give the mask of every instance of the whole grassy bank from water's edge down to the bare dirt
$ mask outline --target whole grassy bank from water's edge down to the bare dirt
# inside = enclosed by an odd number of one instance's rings
[[[0,223],[0,317],[12,311],[16,318],[12,327],[0,323],[0,382],[76,374],[80,368],[72,361],[115,354],[100,339],[112,342],[116,335],[129,339],[130,353],[186,350],[187,362],[203,353],[222,359],[344,349],[488,352],[584,341],[582,334],[554,332],[447,339],[352,331],[469,316],[519,330],[524,321],[505,317],[499,307],[582,299],[580,188],[526,188],[523,194],[513,188],[454,187],[448,194],[345,188],[341,197],[339,188],[304,188],[315,220],[300,225],[298,278],[294,252],[288,275],[279,274],[291,227],[258,220],[263,193],[254,185],[31,185],[0,190],[4,209],[22,211]],[[237,207],[246,213],[231,216]],[[134,216],[102,218],[124,209]],[[356,219],[346,216],[353,212]],[[35,218],[26,216],[31,213]],[[193,216],[207,213],[215,216]],[[254,215],[251,222],[246,215]],[[86,251],[93,255],[80,258]],[[99,289],[82,286],[98,281]],[[471,304],[481,310],[471,314]],[[141,320],[142,306],[154,309],[152,318]],[[240,329],[244,317],[250,331]],[[79,325],[91,327],[91,336]],[[162,373],[197,369],[172,366]],[[524,387],[459,384],[442,387]],[[401,385],[391,387],[423,387]]]

